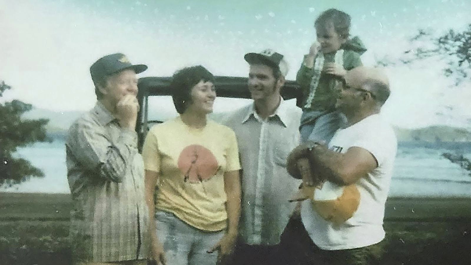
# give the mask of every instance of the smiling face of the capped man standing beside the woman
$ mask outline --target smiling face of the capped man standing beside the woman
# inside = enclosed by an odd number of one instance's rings
[[[276,79],[273,69],[262,64],[251,64],[249,70],[249,91],[253,100],[267,100],[280,96],[283,79]]]

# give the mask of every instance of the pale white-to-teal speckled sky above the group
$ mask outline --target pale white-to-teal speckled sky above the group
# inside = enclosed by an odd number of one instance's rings
[[[13,87],[2,100],[54,111],[92,108],[89,66],[114,52],[147,64],[141,77],[198,64],[214,75],[246,76],[244,54],[271,48],[284,54],[293,80],[315,40],[313,22],[328,8],[352,17],[350,33],[368,48],[367,66],[397,59],[418,29],[439,35],[471,23],[469,0],[0,0],[0,80]],[[454,86],[445,66],[438,58],[387,66],[392,93],[383,115],[406,128],[471,128],[471,82]]]

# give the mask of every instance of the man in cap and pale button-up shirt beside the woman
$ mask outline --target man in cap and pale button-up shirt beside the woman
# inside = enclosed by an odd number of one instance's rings
[[[280,96],[288,72],[283,55],[248,53],[253,102],[226,121],[237,136],[242,165],[242,214],[234,264],[273,264],[280,235],[300,182],[289,177],[286,158],[300,142],[300,108]]]

